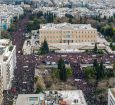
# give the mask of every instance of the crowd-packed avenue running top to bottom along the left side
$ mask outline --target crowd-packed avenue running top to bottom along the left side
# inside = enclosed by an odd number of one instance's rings
[[[22,54],[24,33],[26,31],[25,26],[29,21],[30,15],[30,13],[27,13],[22,20],[19,20],[17,23],[17,30],[12,33],[12,44],[16,45],[17,64],[14,71],[12,89],[4,94],[4,105],[10,105],[15,94],[31,94],[34,91],[34,56]]]

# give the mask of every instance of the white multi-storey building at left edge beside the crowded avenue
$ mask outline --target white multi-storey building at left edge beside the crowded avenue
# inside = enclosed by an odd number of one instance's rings
[[[0,76],[3,81],[3,90],[11,88],[15,67],[16,46],[12,46],[7,39],[0,39]]]

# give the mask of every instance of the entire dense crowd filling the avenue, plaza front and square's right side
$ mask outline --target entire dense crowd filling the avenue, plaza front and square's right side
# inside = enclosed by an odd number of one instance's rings
[[[92,53],[50,53],[46,55],[23,55],[22,46],[24,43],[25,25],[29,21],[29,15],[17,23],[18,30],[13,32],[12,42],[16,45],[17,53],[17,67],[14,71],[14,80],[12,81],[11,90],[4,93],[4,105],[9,105],[9,100],[12,100],[15,95],[18,94],[31,94],[34,93],[34,73],[35,68],[39,67],[44,61],[58,62],[62,57],[65,61],[68,61],[73,69],[74,79],[80,79],[76,81],[75,85],[78,89],[83,90],[88,105],[106,105],[106,103],[98,103],[92,94],[96,90],[96,86],[87,84],[84,80],[84,74],[80,69],[80,64],[92,64],[94,59],[98,62],[101,60],[103,63],[111,64],[115,62],[115,55],[95,55]]]

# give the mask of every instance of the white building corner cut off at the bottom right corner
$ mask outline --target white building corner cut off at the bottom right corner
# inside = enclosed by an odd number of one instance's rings
[[[108,105],[115,105],[115,88],[108,89]]]

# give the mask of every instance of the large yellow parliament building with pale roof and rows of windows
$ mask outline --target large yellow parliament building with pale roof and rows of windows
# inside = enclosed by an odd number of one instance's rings
[[[90,24],[41,24],[39,29],[40,44],[47,40],[49,44],[82,43],[97,41],[97,30]]]

